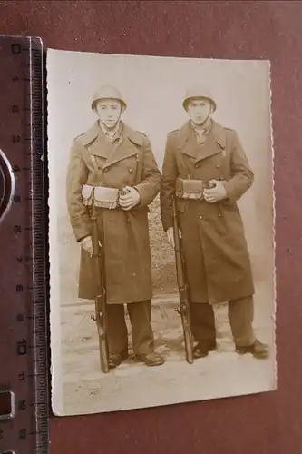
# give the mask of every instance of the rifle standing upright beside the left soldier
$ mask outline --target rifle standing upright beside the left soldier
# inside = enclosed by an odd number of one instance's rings
[[[94,203],[94,188],[92,192],[92,240],[93,240],[93,271],[97,282],[97,291],[94,298],[95,315],[92,315],[93,321],[96,321],[99,337],[99,350],[101,370],[103,373],[109,372],[109,350],[107,339],[107,323],[106,323],[106,289],[105,289],[105,268],[103,263],[102,245],[100,244],[96,207]]]

